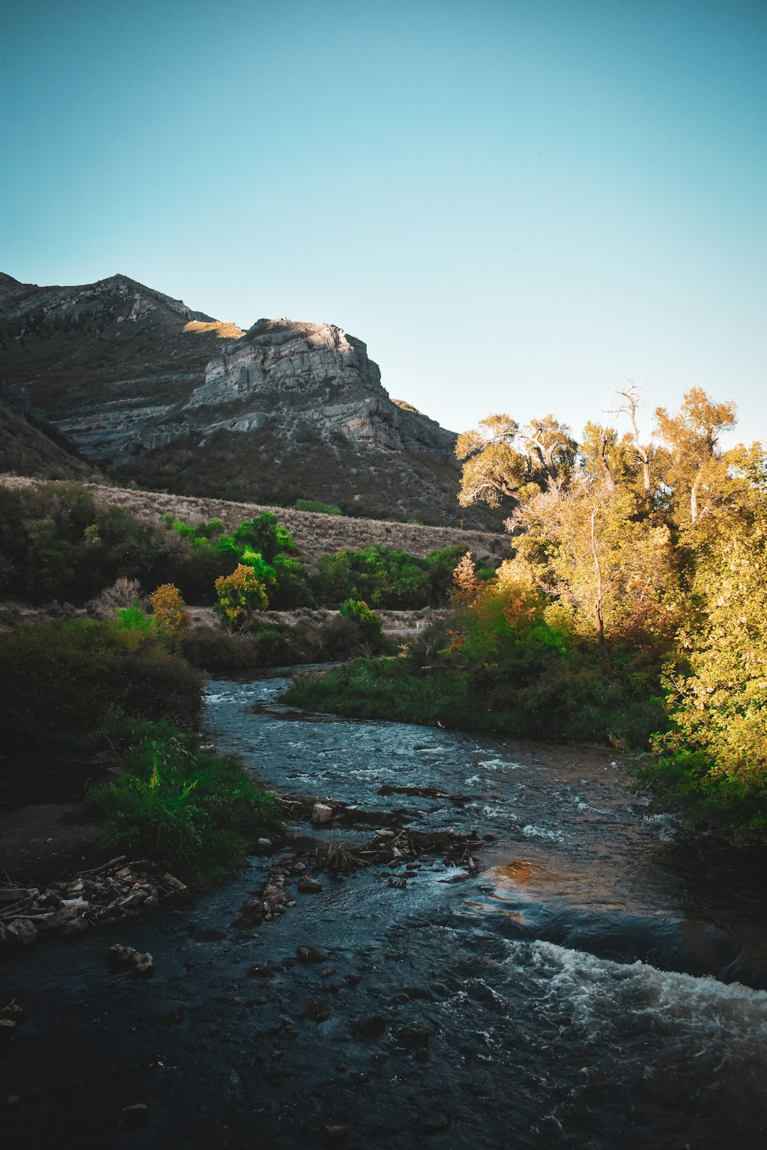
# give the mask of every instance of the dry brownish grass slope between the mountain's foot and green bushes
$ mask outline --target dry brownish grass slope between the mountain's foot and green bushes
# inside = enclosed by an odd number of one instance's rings
[[[6,486],[29,486],[45,480],[18,475],[0,475]],[[507,554],[509,540],[504,535],[454,527],[423,527],[419,523],[394,523],[377,519],[353,519],[348,515],[325,515],[317,512],[294,511],[290,507],[267,507],[260,504],[232,503],[225,499],[201,499],[193,496],[166,494],[113,488],[102,483],[86,483],[107,503],[118,504],[137,515],[159,519],[170,513],[190,523],[220,519],[229,530],[243,520],[271,512],[293,536],[296,545],[309,561],[329,552],[350,547],[359,551],[370,543],[401,547],[413,555],[428,555],[432,551],[455,545],[474,551],[480,561]]]

